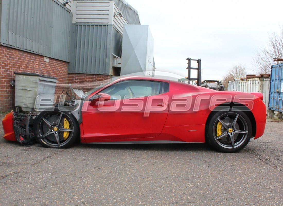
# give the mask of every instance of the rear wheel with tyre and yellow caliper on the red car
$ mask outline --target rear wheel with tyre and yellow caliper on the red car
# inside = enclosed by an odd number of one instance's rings
[[[205,126],[207,143],[220,152],[240,151],[248,144],[251,135],[250,119],[241,111],[213,112]]]

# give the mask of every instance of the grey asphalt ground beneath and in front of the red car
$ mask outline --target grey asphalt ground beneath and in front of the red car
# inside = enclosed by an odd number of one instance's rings
[[[269,121],[228,154],[197,143],[27,147],[0,128],[0,205],[283,205],[282,131]]]

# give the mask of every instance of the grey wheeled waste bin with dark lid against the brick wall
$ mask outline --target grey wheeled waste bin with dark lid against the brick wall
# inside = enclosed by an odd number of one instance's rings
[[[26,112],[52,107],[56,82],[55,77],[15,72],[15,107]]]

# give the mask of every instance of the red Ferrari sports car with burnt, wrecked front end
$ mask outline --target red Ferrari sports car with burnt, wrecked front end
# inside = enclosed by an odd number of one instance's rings
[[[123,77],[74,92],[76,99],[33,116],[42,146],[66,148],[80,138],[103,144],[206,142],[237,152],[265,129],[261,93],[219,92],[152,77]],[[12,113],[3,119],[5,139],[22,138],[15,135],[14,119]]]

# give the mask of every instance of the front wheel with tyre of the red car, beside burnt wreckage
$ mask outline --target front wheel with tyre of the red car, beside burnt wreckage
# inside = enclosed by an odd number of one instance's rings
[[[41,112],[35,120],[33,131],[37,142],[47,148],[68,148],[80,133],[77,120],[61,111]]]

